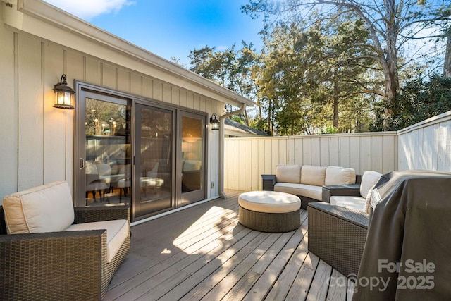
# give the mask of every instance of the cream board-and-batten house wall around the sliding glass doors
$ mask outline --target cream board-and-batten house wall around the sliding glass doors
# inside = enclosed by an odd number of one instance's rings
[[[10,8],[1,4],[0,199],[54,180],[73,184],[74,111],[53,108],[53,87],[63,73],[68,75],[68,85],[73,88],[74,80],[80,80],[209,115],[222,112],[223,102],[156,78],[153,75],[161,70],[156,72],[151,64],[146,65],[129,54],[107,47],[102,49],[101,45],[88,40],[82,40],[85,44],[78,47],[85,51],[79,51],[8,25],[21,20],[23,24],[18,27],[34,22],[49,30],[47,23],[39,20],[28,16],[16,18],[16,5]],[[58,28],[52,30],[61,35]],[[72,34],[66,34],[70,41],[80,39],[77,35],[71,39]],[[91,49],[105,56],[94,56]],[[140,71],[128,68],[137,65]],[[180,85],[192,84],[180,79]],[[206,94],[212,92],[206,90]],[[218,134],[210,130],[208,135],[208,183],[217,183],[218,167],[211,162],[218,161]],[[218,195],[218,185],[207,190],[207,197]]]

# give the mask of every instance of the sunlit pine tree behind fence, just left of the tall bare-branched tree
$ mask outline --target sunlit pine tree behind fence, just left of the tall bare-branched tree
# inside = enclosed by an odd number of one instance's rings
[[[340,113],[347,113],[350,121],[355,109],[350,104],[357,104],[365,94],[376,91],[380,82],[373,73],[376,60],[372,49],[366,47],[369,35],[362,19],[344,18],[340,12],[332,17],[321,22],[325,46],[321,56],[314,58],[318,62],[314,68],[320,71],[320,77],[316,78],[311,73],[310,77],[326,86],[326,93],[319,100],[333,107],[333,127],[341,133],[354,128],[340,128]]]

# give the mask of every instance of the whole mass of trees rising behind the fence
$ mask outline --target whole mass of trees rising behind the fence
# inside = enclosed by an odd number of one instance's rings
[[[266,20],[261,53],[206,46],[190,51],[190,70],[254,99],[235,120],[273,135],[397,129],[446,107],[427,87],[440,77],[424,78],[445,39],[451,70],[449,1],[250,0],[242,10]]]

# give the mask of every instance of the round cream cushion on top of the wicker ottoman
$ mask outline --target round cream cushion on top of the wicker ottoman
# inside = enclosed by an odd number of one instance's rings
[[[265,213],[287,213],[297,211],[301,200],[295,195],[276,191],[244,192],[238,197],[242,208]]]

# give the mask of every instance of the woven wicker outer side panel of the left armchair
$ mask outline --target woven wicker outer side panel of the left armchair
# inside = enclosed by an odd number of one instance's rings
[[[0,299],[99,300],[106,231],[83,232],[2,235]]]

